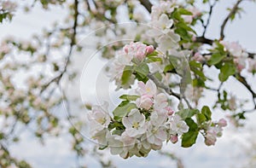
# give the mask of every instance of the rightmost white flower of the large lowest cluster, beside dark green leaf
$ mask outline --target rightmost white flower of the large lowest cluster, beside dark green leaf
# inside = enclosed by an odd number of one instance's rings
[[[174,115],[174,117],[172,118],[170,128],[171,128],[171,133],[173,135],[176,135],[176,134],[182,135],[183,133],[189,130],[189,126],[177,114]]]

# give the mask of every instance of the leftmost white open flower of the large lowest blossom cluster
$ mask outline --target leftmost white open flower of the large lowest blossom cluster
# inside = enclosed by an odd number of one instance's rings
[[[110,123],[110,116],[106,109],[108,109],[107,103],[103,104],[102,107],[92,107],[92,111],[88,113],[88,118],[90,119],[90,133],[93,136],[96,132],[107,128]]]

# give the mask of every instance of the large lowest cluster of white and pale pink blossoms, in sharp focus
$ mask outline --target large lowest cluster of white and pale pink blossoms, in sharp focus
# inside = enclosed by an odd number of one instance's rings
[[[172,111],[167,96],[158,93],[152,80],[138,82],[135,106],[120,119],[113,119],[105,109],[93,107],[89,113],[90,133],[101,147],[123,158],[147,156],[159,150],[164,141],[177,142],[178,136],[189,130],[186,122]],[[135,103],[134,103],[135,102]],[[114,114],[115,115],[115,114]]]

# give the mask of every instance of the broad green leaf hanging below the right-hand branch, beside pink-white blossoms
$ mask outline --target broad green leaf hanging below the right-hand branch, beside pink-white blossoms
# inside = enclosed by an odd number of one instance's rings
[[[233,63],[225,62],[224,66],[220,68],[220,73],[218,74],[218,79],[221,82],[226,81],[231,75],[236,73],[236,67]]]

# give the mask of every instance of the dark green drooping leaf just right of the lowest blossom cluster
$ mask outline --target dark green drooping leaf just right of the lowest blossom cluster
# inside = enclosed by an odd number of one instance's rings
[[[189,125],[189,131],[182,136],[182,147],[189,148],[195,144],[199,131],[193,119],[186,119],[185,121]]]

